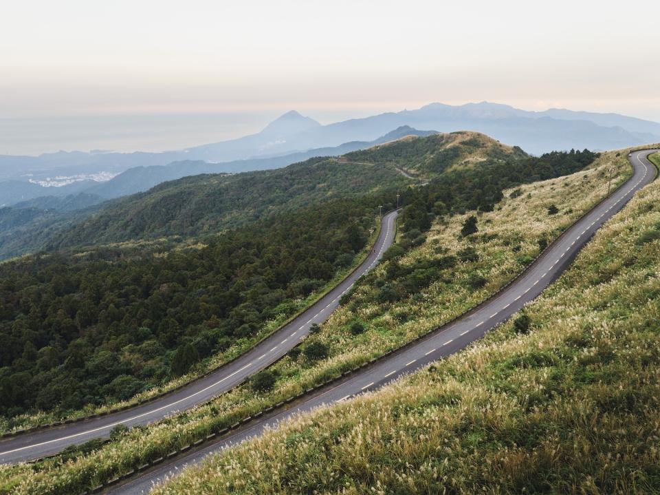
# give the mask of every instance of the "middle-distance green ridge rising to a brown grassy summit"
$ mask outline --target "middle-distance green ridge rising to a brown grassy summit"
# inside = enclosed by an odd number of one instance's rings
[[[478,157],[518,160],[525,156],[481,136],[478,145],[463,146],[455,135],[406,138],[338,160],[311,158],[283,169],[201,175],[158,185],[146,193],[120,200],[78,226],[56,235],[50,246],[119,242],[168,235],[203,235],[236,227],[265,216],[292,211],[333,198],[403,190],[417,180],[404,176],[395,164],[426,162],[445,156],[452,160]],[[477,140],[472,138],[472,140]],[[454,156],[454,151],[460,152]],[[355,163],[353,160],[362,162]],[[439,158],[438,158],[439,159]],[[429,171],[434,177],[441,169]]]

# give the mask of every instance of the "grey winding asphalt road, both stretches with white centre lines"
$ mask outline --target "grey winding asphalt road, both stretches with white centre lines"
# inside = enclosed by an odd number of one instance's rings
[[[294,414],[306,412],[324,404],[344,401],[357,394],[380,388],[401,375],[450,355],[481,338],[488,330],[504,322],[522,306],[537,297],[569,266],[593,233],[617,213],[636,191],[655,178],[657,170],[648,160],[648,155],[654,151],[657,150],[635,151],[630,154],[629,159],[633,167],[632,177],[614,191],[609,198],[567,229],[538,260],[495,297],[476,306],[454,322],[439,328],[414,344],[393,352],[373,365],[355,372],[341,381],[331,383],[327,388],[321,388],[318,392],[303,397],[287,408],[264,415],[243,428],[221,437],[214,443],[206,444],[199,450],[190,451],[188,454],[152,467],[126,483],[116,485],[111,493],[148,492],[153,483],[162,480],[164,476],[174,474],[181,467],[196,463],[212,452],[219,452],[230,445],[258,435],[265,428],[272,428]],[[342,294],[349,291],[355,281],[380,260],[384,251],[394,240],[396,217],[397,211],[393,211],[382,218],[382,229],[375,243],[375,249],[351,275],[292,322],[277,330],[276,333],[261,341],[238,359],[222,366],[207,377],[192,381],[184,388],[142,406],[1,441],[0,463],[36,459],[59,452],[68,445],[107,437],[110,430],[118,424],[134,426],[158,421],[171,414],[204,403],[245,381],[255,372],[266,368],[296,346],[309,333],[311,324],[324,322],[338,306]]]

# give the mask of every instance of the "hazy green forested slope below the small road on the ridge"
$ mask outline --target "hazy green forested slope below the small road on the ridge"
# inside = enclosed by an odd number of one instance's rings
[[[393,167],[311,158],[284,169],[185,177],[122,200],[54,235],[65,246],[196,236],[240,227],[320,201],[364,196],[412,183]]]

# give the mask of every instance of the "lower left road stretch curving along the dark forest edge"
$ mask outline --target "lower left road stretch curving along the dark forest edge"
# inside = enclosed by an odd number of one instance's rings
[[[324,297],[312,304],[292,322],[277,330],[260,344],[245,352],[231,363],[222,366],[208,377],[193,381],[188,386],[153,402],[108,416],[69,423],[56,428],[40,430],[0,441],[0,463],[17,463],[55,454],[73,444],[107,437],[118,424],[134,426],[153,423],[166,416],[204,403],[234,388],[250,375],[263,370],[283,357],[309,333],[309,327],[325,322],[339,305],[340,297],[364,273],[371,270],[384,251],[394,242],[395,220],[398,212],[391,211],[381,220],[381,231],[366,260]]]

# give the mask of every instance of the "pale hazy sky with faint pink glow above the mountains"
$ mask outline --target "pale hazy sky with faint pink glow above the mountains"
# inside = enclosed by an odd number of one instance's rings
[[[637,0],[4,1],[0,153],[172,149],[289,109],[434,101],[660,121],[659,17]]]

